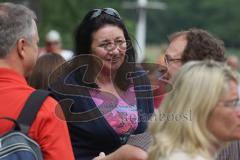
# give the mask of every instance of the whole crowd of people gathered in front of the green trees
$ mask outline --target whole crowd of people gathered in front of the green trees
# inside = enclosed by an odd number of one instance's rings
[[[153,85],[113,8],[85,15],[74,52],[55,30],[39,52],[36,20],[0,3],[0,118],[18,119],[32,92],[49,90],[28,133],[43,159],[240,159],[238,57],[226,59],[222,40],[197,28],[173,33]],[[1,121],[0,134],[13,127]]]

